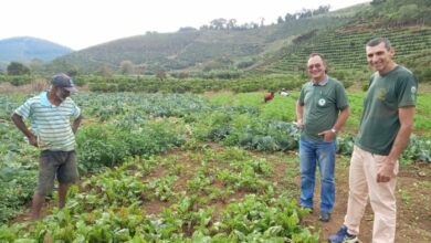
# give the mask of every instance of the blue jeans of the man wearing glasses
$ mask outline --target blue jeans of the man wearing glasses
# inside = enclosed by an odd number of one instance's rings
[[[299,140],[301,207],[313,209],[316,166],[320,172],[320,212],[333,212],[335,202],[335,152],[337,141]]]

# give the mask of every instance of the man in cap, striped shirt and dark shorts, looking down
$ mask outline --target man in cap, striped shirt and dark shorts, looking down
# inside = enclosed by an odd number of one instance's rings
[[[45,197],[51,194],[54,178],[59,180],[59,208],[66,201],[67,189],[78,178],[75,162],[75,133],[81,109],[70,98],[76,92],[73,81],[60,73],[52,77],[51,88],[29,98],[12,115],[17,127],[30,145],[41,149],[38,188],[33,194],[31,219],[39,220]],[[24,120],[30,118],[31,128]],[[71,118],[73,123],[71,125]]]

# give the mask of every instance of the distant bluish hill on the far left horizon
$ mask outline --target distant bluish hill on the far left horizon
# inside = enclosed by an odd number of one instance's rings
[[[70,47],[36,38],[3,39],[0,40],[0,70],[4,70],[9,62],[12,61],[28,64],[32,60],[38,59],[43,62],[50,62],[72,51]]]

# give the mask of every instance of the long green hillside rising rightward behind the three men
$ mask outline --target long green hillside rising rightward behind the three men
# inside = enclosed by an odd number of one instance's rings
[[[387,36],[397,61],[425,72],[431,53],[431,7],[424,0],[374,0],[338,11],[286,19],[246,29],[188,29],[125,38],[54,60],[49,72],[135,74],[244,70],[251,73],[304,72],[312,52],[326,55],[333,70],[366,70],[364,44]],[[414,14],[413,14],[414,11]]]

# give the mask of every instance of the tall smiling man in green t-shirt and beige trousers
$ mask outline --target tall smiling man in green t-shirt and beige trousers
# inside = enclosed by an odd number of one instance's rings
[[[372,242],[390,243],[396,234],[398,158],[413,128],[418,81],[392,61],[388,39],[366,45],[367,61],[377,71],[364,99],[364,112],[350,160],[349,197],[344,225],[330,242],[357,242],[368,197],[375,212]]]

